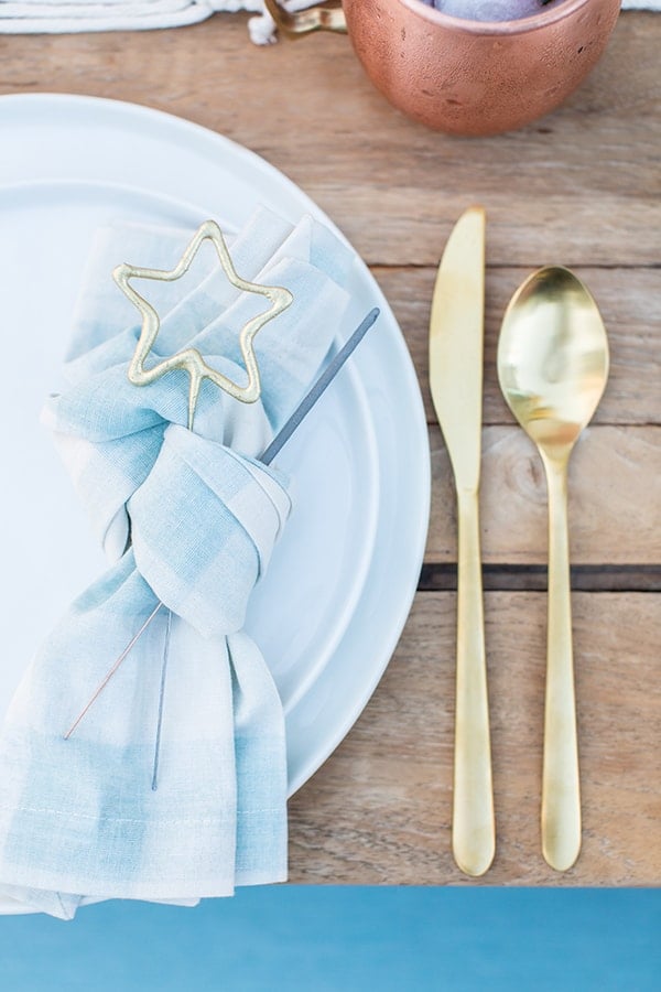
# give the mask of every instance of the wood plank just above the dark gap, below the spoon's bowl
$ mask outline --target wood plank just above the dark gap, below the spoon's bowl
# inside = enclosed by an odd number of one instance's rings
[[[425,560],[456,561],[456,513],[447,452],[430,432],[432,511]],[[661,560],[661,428],[588,428],[570,463],[570,546],[574,564],[657,564]],[[546,484],[532,442],[518,427],[483,432],[483,560],[546,561]]]

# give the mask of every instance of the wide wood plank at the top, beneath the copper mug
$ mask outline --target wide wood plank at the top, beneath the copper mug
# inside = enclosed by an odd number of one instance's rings
[[[460,209],[481,202],[491,263],[651,265],[661,256],[661,23],[622,17],[561,110],[488,139],[434,133],[392,109],[346,39],[258,48],[245,17],[119,34],[0,39],[0,91],[148,104],[266,155],[370,263],[433,265]],[[192,177],[186,177],[187,183]]]

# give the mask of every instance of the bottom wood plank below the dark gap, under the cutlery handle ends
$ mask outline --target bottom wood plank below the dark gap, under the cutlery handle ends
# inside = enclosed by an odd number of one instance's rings
[[[451,855],[454,610],[419,593],[372,701],[291,800],[291,881],[659,885],[659,599],[574,596],[584,843],[559,874],[540,851],[545,597],[487,595],[498,848],[479,882]]]

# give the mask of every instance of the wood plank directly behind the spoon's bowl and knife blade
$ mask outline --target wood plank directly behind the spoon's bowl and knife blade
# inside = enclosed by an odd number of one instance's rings
[[[491,226],[488,228],[488,233]],[[438,254],[444,241],[438,239]],[[550,263],[564,263],[556,246],[550,248]],[[513,423],[498,386],[496,356],[505,309],[518,285],[532,271],[491,268],[487,270],[485,313],[485,391],[483,419],[486,424]],[[597,408],[595,423],[661,423],[661,271],[658,269],[575,268],[595,296],[608,332],[610,373],[606,392]],[[435,268],[375,268],[381,285],[407,338],[420,379],[430,422],[435,422],[429,389],[427,336]]]

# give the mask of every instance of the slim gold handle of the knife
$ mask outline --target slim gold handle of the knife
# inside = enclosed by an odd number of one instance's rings
[[[457,672],[452,847],[467,875],[496,850],[478,494],[458,493]]]

